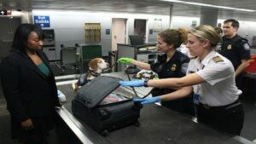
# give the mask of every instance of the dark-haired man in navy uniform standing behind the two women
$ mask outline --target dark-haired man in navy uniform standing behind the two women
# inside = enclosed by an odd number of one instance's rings
[[[250,45],[246,38],[237,34],[239,22],[234,19],[224,20],[224,37],[221,44],[221,55],[228,58],[236,71],[236,85],[241,87],[244,70],[249,66]]]

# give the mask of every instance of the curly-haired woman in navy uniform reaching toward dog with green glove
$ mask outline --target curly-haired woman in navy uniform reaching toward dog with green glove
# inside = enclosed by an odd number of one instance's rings
[[[189,57],[177,51],[177,48],[186,41],[188,32],[184,29],[168,29],[160,32],[157,36],[157,48],[163,55],[158,55],[158,59],[152,63],[144,63],[130,58],[120,58],[120,63],[131,63],[146,70],[156,72],[159,78],[182,78],[186,75],[189,64]],[[154,88],[151,92],[153,96],[165,95],[176,89]],[[164,107],[169,107],[177,112],[186,112],[194,115],[192,96],[177,101],[164,101]]]

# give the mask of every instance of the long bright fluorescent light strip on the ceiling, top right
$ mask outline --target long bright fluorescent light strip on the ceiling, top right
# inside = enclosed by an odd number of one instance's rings
[[[206,3],[186,2],[186,1],[180,1],[180,0],[160,0],[160,1],[166,1],[166,2],[172,2],[172,3],[184,3],[184,4],[197,5],[197,6],[210,7],[210,8],[218,8],[218,9],[239,10],[239,11],[246,11],[246,12],[255,12],[256,11],[253,9],[239,9],[239,8],[233,8],[233,7],[225,7],[225,6],[206,4]]]

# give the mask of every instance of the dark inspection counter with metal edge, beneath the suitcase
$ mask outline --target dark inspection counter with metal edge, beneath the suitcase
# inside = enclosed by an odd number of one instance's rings
[[[122,72],[105,74],[115,78],[127,80]],[[71,84],[58,84],[58,89],[67,97],[63,107],[56,108],[67,130],[79,140],[76,143],[84,144],[253,144],[240,136],[224,135],[212,130],[205,124],[197,124],[189,115],[174,112],[166,107],[149,104],[144,105],[139,118],[140,126],[127,126],[120,130],[110,132],[102,136],[90,129],[78,118],[75,118],[71,110],[71,101],[76,93]],[[150,88],[136,88],[137,95],[148,94]],[[132,91],[127,88],[127,91]],[[63,131],[65,132],[65,131]]]

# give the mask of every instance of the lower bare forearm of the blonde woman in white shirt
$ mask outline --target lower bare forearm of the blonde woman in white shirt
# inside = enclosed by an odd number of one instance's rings
[[[178,89],[172,93],[166,94],[166,95],[161,95],[161,101],[172,101],[172,100],[177,100],[183,97],[186,97],[192,93],[192,87],[183,87],[182,89]]]

